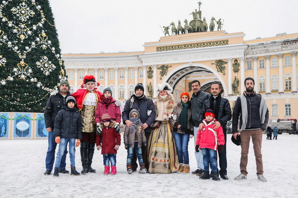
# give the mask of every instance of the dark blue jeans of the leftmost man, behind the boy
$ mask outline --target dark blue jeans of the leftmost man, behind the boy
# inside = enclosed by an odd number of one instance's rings
[[[53,170],[53,165],[55,161],[55,150],[57,147],[57,143],[55,142],[54,131],[49,132],[48,135],[48,151],[46,156],[46,169]],[[63,157],[61,159],[61,169],[64,169],[66,166],[66,154],[68,153],[67,148],[64,151]]]

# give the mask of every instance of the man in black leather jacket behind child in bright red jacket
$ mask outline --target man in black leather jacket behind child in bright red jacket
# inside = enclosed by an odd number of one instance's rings
[[[228,177],[226,176],[226,123],[232,118],[232,113],[229,101],[228,99],[222,98],[221,91],[222,89],[220,88],[220,84],[213,83],[211,85],[210,92],[212,97],[210,97],[210,99],[206,99],[203,103],[203,108],[199,118],[199,130],[203,130],[204,124],[202,121],[206,110],[212,109],[215,114],[215,119],[217,120],[214,124],[214,129],[222,126],[224,131],[224,150],[223,152],[219,152],[219,162],[221,168],[219,173],[224,180],[228,180]]]

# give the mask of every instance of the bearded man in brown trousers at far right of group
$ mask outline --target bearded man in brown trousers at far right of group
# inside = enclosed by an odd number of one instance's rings
[[[267,128],[269,120],[269,110],[265,99],[256,94],[253,90],[254,79],[247,77],[244,80],[246,91],[237,98],[232,113],[232,132],[233,138],[237,139],[239,135],[237,126],[240,116],[239,128],[241,131],[241,158],[240,158],[240,174],[235,177],[235,180],[247,179],[247,161],[250,137],[252,139],[256,165],[257,165],[257,178],[261,182],[267,182],[263,176],[263,161],[262,161],[262,136],[263,131]]]

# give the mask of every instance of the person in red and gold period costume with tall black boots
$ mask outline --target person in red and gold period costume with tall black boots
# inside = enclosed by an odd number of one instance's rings
[[[80,146],[82,171],[81,174],[88,172],[95,173],[96,170],[91,167],[94,148],[96,143],[96,126],[94,122],[96,105],[102,98],[102,93],[95,88],[99,86],[95,77],[85,76],[81,88],[78,89],[72,96],[77,102],[77,107],[80,110],[82,119],[82,140]]]

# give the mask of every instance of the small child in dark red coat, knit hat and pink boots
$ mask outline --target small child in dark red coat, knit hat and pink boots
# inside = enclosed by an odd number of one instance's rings
[[[101,154],[103,155],[104,175],[108,175],[110,172],[111,162],[111,175],[117,173],[116,170],[116,153],[119,149],[121,142],[120,133],[115,132],[115,121],[111,121],[109,114],[105,113],[101,117],[100,128],[101,134],[96,134],[96,147],[97,150],[101,148]]]

